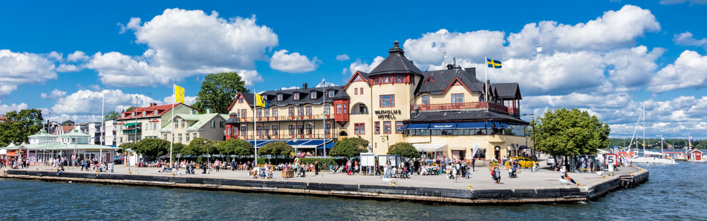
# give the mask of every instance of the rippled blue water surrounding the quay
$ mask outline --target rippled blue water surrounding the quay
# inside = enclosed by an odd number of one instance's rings
[[[2,220],[705,220],[706,163],[645,165],[650,179],[590,202],[404,201],[0,179]]]

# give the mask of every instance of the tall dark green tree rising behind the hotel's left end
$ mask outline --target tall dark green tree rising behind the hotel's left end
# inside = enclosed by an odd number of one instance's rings
[[[245,81],[236,72],[209,74],[201,81],[201,89],[194,108],[211,108],[216,113],[228,113],[228,106],[238,92],[245,92]]]

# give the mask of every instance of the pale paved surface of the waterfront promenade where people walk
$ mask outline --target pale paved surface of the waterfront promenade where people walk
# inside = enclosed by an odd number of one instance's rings
[[[30,170],[52,170],[51,166],[30,166]],[[615,176],[629,174],[629,171],[636,173],[638,169],[633,168],[633,166],[620,167],[621,171],[614,172]],[[130,170],[132,174],[138,175],[152,175],[152,176],[171,176],[167,173],[158,173],[158,168],[144,168],[144,167],[134,167],[131,166]],[[67,172],[81,172],[80,168],[74,169],[73,167],[66,168]],[[127,174],[128,167],[124,165],[116,165],[115,173]],[[95,173],[90,171],[87,173]],[[248,176],[247,171],[212,171],[211,174],[200,174],[201,170],[197,170],[197,174],[194,175],[180,175],[180,176],[192,176],[192,177],[209,177],[209,178],[220,178],[220,179],[252,179]],[[440,188],[467,188],[470,184],[473,188],[544,188],[544,187],[559,187],[567,186],[561,185],[558,181],[560,173],[556,171],[551,171],[549,169],[540,169],[537,172],[532,172],[530,169],[521,169],[518,174],[518,178],[510,179],[508,178],[508,171],[501,171],[503,176],[501,177],[501,184],[491,183],[491,173],[488,167],[477,167],[476,171],[472,173],[472,179],[457,179],[459,183],[454,183],[454,180],[446,179],[446,176],[413,176],[411,179],[397,179],[397,184],[402,186],[423,186],[423,187],[440,187]],[[608,174],[608,173],[607,173]],[[595,173],[571,173],[572,178],[582,184],[582,186],[589,186],[602,181],[601,176],[597,176]],[[608,177],[608,176],[607,176]],[[291,178],[291,181],[304,181],[304,182],[324,182],[324,183],[346,183],[346,184],[375,184],[382,185],[385,184],[380,176],[361,176],[353,175],[347,176],[346,174],[329,174],[329,172],[320,172],[319,176],[314,176],[314,173],[308,172],[304,178]],[[280,176],[279,171],[274,172],[274,181],[284,181]]]

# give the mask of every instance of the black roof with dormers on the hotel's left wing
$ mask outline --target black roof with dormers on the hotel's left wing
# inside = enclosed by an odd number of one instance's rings
[[[271,106],[286,106],[290,104],[298,105],[303,103],[322,103],[322,96],[324,92],[322,91],[324,87],[307,88],[307,89],[284,89],[284,90],[273,90],[264,91],[261,96],[266,96],[266,99],[270,102]],[[344,86],[327,86],[327,91],[334,90],[334,97],[326,98],[327,103],[334,101],[334,98],[349,98],[349,94],[343,90]],[[317,98],[310,98],[310,93],[316,92]],[[300,93],[300,99],[295,100],[293,94]],[[277,94],[282,94],[282,101],[277,101]]]

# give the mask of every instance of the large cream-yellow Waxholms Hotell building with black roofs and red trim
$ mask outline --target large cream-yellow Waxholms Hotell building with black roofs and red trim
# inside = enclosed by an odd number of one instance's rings
[[[322,155],[337,140],[361,137],[375,154],[409,142],[426,157],[486,161],[529,153],[532,145],[529,123],[520,119],[517,83],[485,83],[475,68],[454,64],[421,72],[397,41],[370,73],[356,72],[344,86],[305,83],[261,96],[269,108],[253,108],[250,93],[235,97],[228,108],[227,140],[257,140],[257,147],[285,141],[299,152]],[[472,156],[475,146],[479,151]]]

